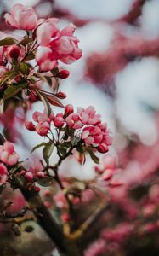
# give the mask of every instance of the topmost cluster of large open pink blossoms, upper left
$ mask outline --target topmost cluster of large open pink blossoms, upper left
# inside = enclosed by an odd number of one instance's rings
[[[9,26],[36,32],[37,46],[40,46],[37,49],[36,59],[42,71],[57,67],[58,60],[71,64],[81,58],[82,50],[78,48],[79,40],[73,35],[76,29],[73,24],[60,31],[59,19],[38,20],[34,9],[20,3],[14,4],[11,14],[5,14],[4,18]],[[17,50],[14,49],[14,53],[17,53]]]

